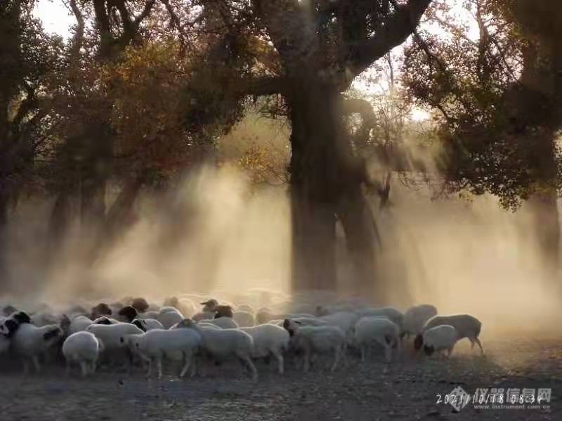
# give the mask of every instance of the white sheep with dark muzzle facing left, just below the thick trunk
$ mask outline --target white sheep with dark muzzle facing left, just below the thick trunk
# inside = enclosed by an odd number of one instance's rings
[[[289,332],[290,345],[297,351],[304,352],[303,372],[308,373],[311,358],[317,354],[334,353],[334,363],[330,371],[334,372],[346,347],[346,335],[337,326],[301,326],[294,319],[285,319],[283,328]]]

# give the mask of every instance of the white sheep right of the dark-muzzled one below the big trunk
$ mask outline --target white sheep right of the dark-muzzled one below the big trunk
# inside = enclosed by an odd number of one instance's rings
[[[398,348],[400,352],[400,328],[383,316],[362,317],[355,323],[354,343],[361,350],[361,361],[365,362],[367,349],[373,342],[384,347],[384,356],[387,363],[392,361],[392,349]]]

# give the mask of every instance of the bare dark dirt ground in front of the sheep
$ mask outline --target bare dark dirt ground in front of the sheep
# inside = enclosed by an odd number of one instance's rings
[[[467,342],[467,341],[465,341]],[[388,368],[380,356],[361,364],[350,356],[336,373],[322,361],[311,373],[287,373],[259,365],[260,379],[223,366],[207,377],[146,380],[141,370],[118,375],[100,370],[93,378],[65,379],[63,368],[22,377],[19,367],[0,372],[0,420],[562,420],[562,337],[484,340],[486,356],[459,344],[450,361],[414,359]],[[76,373],[77,374],[77,373]],[[172,374],[172,373],[169,373]],[[456,411],[436,403],[460,385],[476,388],[551,388],[549,408]]]

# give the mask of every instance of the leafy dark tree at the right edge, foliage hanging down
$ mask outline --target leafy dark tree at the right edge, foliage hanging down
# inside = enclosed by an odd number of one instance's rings
[[[553,2],[470,0],[478,39],[455,25],[444,2],[429,17],[449,36],[424,34],[407,51],[412,98],[438,110],[450,192],[491,193],[506,208],[535,206],[543,254],[556,265],[561,128],[561,15]],[[458,54],[463,51],[463,54]]]

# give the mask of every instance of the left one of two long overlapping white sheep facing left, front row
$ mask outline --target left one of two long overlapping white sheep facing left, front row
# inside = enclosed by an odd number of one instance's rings
[[[187,373],[193,358],[200,351],[202,339],[200,333],[193,329],[155,329],[147,333],[126,335],[121,338],[131,351],[148,361],[147,377],[152,373],[152,360],[156,360],[158,378],[162,378],[162,357],[180,354],[185,364],[179,377]]]

